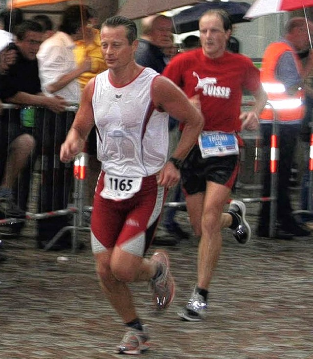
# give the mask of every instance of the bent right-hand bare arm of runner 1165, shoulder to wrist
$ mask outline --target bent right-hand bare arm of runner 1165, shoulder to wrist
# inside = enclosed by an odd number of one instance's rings
[[[173,157],[184,159],[194,144],[203,127],[203,117],[171,80],[164,76],[156,77],[152,87],[152,99],[156,108],[161,108],[184,124],[179,144]]]

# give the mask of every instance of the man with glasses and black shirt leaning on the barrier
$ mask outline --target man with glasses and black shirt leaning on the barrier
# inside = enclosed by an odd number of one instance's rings
[[[1,99],[19,105],[44,106],[51,111],[64,111],[66,101],[61,97],[46,97],[41,92],[36,54],[42,42],[42,27],[34,21],[24,21],[17,27],[17,41],[13,45],[17,51],[14,65],[1,76]],[[12,47],[12,45],[11,45]],[[32,114],[34,112],[32,111]],[[23,117],[24,116],[24,117]],[[0,121],[0,217],[23,218],[27,202],[30,175],[26,176],[27,185],[21,195],[19,208],[13,197],[13,187],[18,174],[25,168],[27,159],[35,147],[32,129],[26,126],[34,121],[30,114],[20,109],[3,113]],[[7,160],[6,160],[7,158]]]

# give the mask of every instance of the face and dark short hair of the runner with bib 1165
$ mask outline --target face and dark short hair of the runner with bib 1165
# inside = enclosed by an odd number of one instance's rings
[[[137,41],[129,44],[125,26],[104,26],[101,30],[102,56],[110,69],[126,67],[133,61],[136,46]]]

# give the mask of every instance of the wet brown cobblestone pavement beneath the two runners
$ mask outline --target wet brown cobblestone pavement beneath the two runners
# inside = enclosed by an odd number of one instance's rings
[[[255,215],[249,219],[254,222]],[[184,212],[179,221],[190,231]],[[113,349],[124,328],[100,290],[88,234],[81,235],[87,249],[77,254],[45,252],[35,247],[29,226],[26,235],[4,240],[0,358],[120,358]],[[201,323],[180,321],[176,314],[195,282],[195,239],[164,248],[177,284],[169,310],[156,315],[147,285],[132,286],[138,313],[152,337],[152,349],[142,358],[313,359],[312,238],[254,236],[240,246],[225,230],[209,314]],[[59,262],[59,256],[68,260]]]

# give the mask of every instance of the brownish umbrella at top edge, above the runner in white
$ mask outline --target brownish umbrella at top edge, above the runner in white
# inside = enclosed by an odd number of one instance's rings
[[[194,5],[197,0],[127,0],[117,14],[129,19],[140,19],[162,11],[176,9],[185,5]]]

